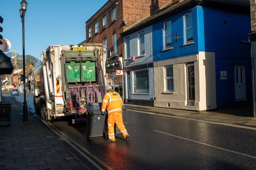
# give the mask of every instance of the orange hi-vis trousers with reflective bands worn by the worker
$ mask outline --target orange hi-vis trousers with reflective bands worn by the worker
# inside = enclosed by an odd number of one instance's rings
[[[122,112],[110,113],[108,114],[108,138],[112,141],[115,141],[115,131],[114,124],[121,131],[124,138],[128,135],[125,125],[122,122]]]

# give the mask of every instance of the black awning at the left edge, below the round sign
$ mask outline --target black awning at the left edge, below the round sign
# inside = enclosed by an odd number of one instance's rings
[[[11,58],[0,50],[0,74],[12,74],[13,69]]]

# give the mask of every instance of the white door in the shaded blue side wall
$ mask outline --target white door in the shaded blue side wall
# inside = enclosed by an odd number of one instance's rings
[[[236,93],[236,100],[245,99],[244,65],[235,65],[235,93]]]

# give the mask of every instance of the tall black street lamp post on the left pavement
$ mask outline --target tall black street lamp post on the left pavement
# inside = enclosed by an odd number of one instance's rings
[[[26,103],[26,70],[25,70],[25,36],[24,36],[24,17],[26,13],[26,7],[28,3],[26,0],[22,0],[20,3],[20,17],[22,22],[22,44],[23,44],[23,92],[24,92],[24,102],[23,102],[23,121],[28,121],[28,109]]]

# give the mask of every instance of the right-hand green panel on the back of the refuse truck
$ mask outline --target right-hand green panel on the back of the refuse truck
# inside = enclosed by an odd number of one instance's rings
[[[95,62],[81,62],[82,82],[95,82]]]

